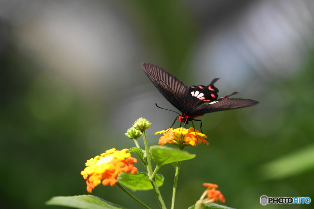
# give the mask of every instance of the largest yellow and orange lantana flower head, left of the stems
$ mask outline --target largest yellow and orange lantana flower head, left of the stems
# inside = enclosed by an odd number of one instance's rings
[[[112,148],[105,153],[97,155],[95,158],[87,160],[86,168],[81,171],[87,184],[87,191],[92,192],[100,183],[105,186],[114,186],[118,182],[118,174],[123,172],[135,174],[138,172],[133,163],[137,163],[136,158],[127,153],[128,149],[121,151]]]

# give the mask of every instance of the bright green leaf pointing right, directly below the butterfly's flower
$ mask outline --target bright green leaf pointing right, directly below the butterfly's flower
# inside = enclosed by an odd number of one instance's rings
[[[190,154],[179,149],[160,145],[153,145],[149,147],[149,149],[153,160],[156,161],[159,165],[182,160],[189,160],[195,158],[196,156],[195,154]]]

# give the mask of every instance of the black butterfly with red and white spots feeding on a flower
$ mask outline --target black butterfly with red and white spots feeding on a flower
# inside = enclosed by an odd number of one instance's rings
[[[187,87],[176,76],[158,66],[143,62],[141,67],[160,93],[171,105],[181,111],[181,115],[177,118],[180,122],[184,122],[184,125],[188,124],[188,121],[200,121],[194,118],[206,113],[250,107],[259,103],[259,101],[252,99],[229,98],[239,92],[233,92],[230,95],[218,98],[217,93],[219,91],[218,88],[214,87],[214,83],[219,78],[214,78],[207,86]]]

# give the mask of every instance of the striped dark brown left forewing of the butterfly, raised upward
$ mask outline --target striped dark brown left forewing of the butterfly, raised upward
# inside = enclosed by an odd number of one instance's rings
[[[181,112],[186,99],[187,85],[176,76],[153,64],[143,62],[141,65],[149,80],[160,93]]]

